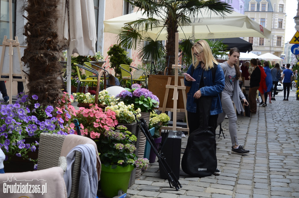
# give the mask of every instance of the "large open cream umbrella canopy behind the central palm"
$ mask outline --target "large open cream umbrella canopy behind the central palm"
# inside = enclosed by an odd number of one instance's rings
[[[166,16],[166,14],[164,14]],[[140,18],[146,18],[142,15],[141,11],[119,16],[113,19],[104,21],[104,32],[118,34],[126,23],[135,21]],[[163,20],[158,16],[155,17],[161,21],[159,27],[154,27],[143,33],[143,36],[149,36],[152,39],[166,40],[167,31],[163,28]],[[199,13],[195,19],[190,19],[192,23],[189,26],[179,27],[179,38],[184,39],[195,36],[196,39],[213,39],[213,38],[233,38],[233,37],[261,37],[269,38],[271,31],[261,26],[259,23],[250,19],[243,14],[232,12],[227,13],[225,19],[216,15],[215,13]],[[140,27],[139,30],[141,31]]]

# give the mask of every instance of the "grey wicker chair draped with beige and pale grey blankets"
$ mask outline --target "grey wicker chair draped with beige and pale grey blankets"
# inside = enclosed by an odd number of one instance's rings
[[[38,170],[58,166],[58,159],[65,135],[41,133],[39,140]],[[55,148],[55,152],[53,152]],[[69,198],[77,198],[79,192],[81,168],[81,153],[76,151],[75,161],[72,168],[72,188]]]

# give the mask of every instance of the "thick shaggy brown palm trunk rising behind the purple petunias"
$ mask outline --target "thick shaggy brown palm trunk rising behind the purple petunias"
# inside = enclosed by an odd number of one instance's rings
[[[28,80],[28,95],[37,95],[42,105],[57,106],[61,95],[62,59],[60,36],[57,35],[57,4],[59,0],[28,0],[24,10],[28,22],[24,26],[27,36],[27,48],[22,61],[29,69],[25,69]]]

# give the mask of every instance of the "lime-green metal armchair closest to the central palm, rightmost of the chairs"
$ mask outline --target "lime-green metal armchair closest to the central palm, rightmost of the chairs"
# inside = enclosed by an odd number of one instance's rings
[[[133,81],[138,81],[138,82],[145,82],[145,87],[147,89],[147,75],[145,74],[145,72],[141,69],[138,69],[136,67],[132,67],[132,66],[129,66],[129,65],[124,65],[124,64],[121,64],[120,65],[120,68],[121,68],[121,80],[120,80],[120,83],[122,80],[126,80],[126,81],[131,81],[131,86],[132,86],[132,83]],[[135,74],[132,74],[130,72],[130,68],[134,68],[136,69],[136,71],[138,72],[135,72]],[[140,76],[144,75],[145,76],[145,79],[139,79]]]

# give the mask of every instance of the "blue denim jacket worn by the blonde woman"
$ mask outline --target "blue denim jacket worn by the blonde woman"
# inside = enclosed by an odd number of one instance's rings
[[[190,86],[190,90],[187,93],[187,105],[186,109],[189,112],[196,112],[196,102],[194,101],[194,94],[199,90],[199,83],[202,75],[202,68],[199,66],[194,69],[193,75],[191,74],[191,68],[193,67],[193,64],[190,65],[187,74],[190,74],[196,81],[187,81],[186,77],[184,78],[184,84],[185,86]],[[219,113],[222,113],[222,106],[221,106],[221,100],[219,97],[219,93],[222,92],[224,89],[224,73],[222,71],[222,68],[220,67],[220,64],[218,64],[216,73],[215,73],[215,79],[213,82],[212,78],[212,71],[209,69],[208,71],[203,72],[203,78],[205,86],[200,88],[200,91],[202,92],[202,96],[214,96],[212,101],[212,106],[210,110],[210,115],[217,115]]]

